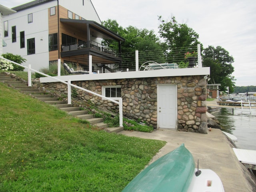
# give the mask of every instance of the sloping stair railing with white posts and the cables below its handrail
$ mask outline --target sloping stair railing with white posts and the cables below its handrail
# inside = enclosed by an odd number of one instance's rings
[[[26,68],[28,72],[23,71],[12,71],[12,68],[6,68],[6,72],[14,73],[16,76],[22,76],[23,79],[28,81],[28,86],[35,86],[39,90],[44,90],[48,94],[52,94],[57,96],[61,100],[67,100],[68,104],[73,104],[75,106],[79,106],[80,108],[95,108],[97,111],[100,110],[102,112],[106,112],[111,114],[112,116],[119,117],[119,126],[123,126],[123,108],[122,108],[122,98],[118,98],[118,100],[113,100],[111,98],[107,98],[100,94],[97,94],[93,91],[82,88],[77,82],[71,83],[71,80],[65,82],[63,80],[58,79],[58,76],[50,76],[48,74],[42,73],[40,71],[34,70],[29,65],[24,66],[8,60],[2,56],[0,56],[2,60],[12,63],[12,65],[18,65],[23,68]],[[2,71],[2,72],[4,72]],[[62,70],[63,71],[63,70]],[[24,74],[26,74],[24,76]],[[44,84],[40,84],[39,81],[35,79],[37,77],[46,76],[52,79],[53,82],[48,82]],[[34,84],[32,85],[32,79],[34,79]],[[39,85],[37,85],[37,82]],[[81,97],[82,95],[82,97]],[[109,104],[111,103],[111,104]]]

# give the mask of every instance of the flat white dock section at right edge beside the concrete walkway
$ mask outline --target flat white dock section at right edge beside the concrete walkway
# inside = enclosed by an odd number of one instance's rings
[[[256,151],[233,148],[238,160],[248,169],[256,170]]]

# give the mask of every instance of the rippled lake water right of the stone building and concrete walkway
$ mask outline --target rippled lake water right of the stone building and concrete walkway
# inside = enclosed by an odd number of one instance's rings
[[[237,137],[237,148],[256,150],[256,109],[209,108],[221,124],[222,130]]]

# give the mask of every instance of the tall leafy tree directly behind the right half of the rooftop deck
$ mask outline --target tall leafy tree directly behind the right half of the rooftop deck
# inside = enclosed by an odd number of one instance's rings
[[[161,22],[158,26],[160,37],[164,39],[166,47],[166,57],[172,62],[187,62],[184,53],[196,52],[199,35],[187,24],[178,24],[176,18],[172,16],[170,21],[165,21],[162,16],[158,16]],[[202,50],[202,45],[201,45]]]

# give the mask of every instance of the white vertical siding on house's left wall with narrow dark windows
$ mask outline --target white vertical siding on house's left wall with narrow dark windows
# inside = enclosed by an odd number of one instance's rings
[[[53,1],[3,17],[3,22],[8,20],[9,30],[8,37],[4,38],[7,46],[3,48],[3,52],[21,55],[27,60],[24,65],[28,66],[28,64],[31,64],[35,70],[48,68],[48,8],[56,4]],[[31,13],[33,14],[33,22],[28,23],[28,14]],[[14,43],[12,43],[12,26],[16,26],[16,42]],[[20,48],[21,31],[25,32],[25,48]],[[35,38],[36,54],[28,55],[27,40],[30,38]]]

